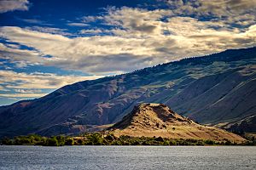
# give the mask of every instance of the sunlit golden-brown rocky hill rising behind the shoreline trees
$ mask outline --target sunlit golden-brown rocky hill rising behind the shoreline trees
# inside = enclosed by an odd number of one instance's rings
[[[163,104],[141,104],[112,127],[114,136],[162,137],[171,139],[210,139],[245,141],[239,135],[217,127],[207,127],[178,115]]]

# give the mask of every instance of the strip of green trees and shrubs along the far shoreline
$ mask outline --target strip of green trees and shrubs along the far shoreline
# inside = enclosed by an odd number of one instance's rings
[[[84,133],[79,137],[71,136],[52,136],[42,137],[36,134],[18,136],[14,139],[4,138],[0,144],[7,145],[44,145],[44,146],[63,146],[63,145],[237,145],[229,140],[217,142],[204,139],[165,139],[161,137],[115,137],[113,134],[103,133]],[[256,145],[255,140],[247,140],[244,144]]]

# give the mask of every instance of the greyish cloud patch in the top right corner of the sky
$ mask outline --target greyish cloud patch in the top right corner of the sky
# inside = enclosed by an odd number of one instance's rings
[[[172,8],[173,14],[194,15],[205,20],[222,20],[226,24],[249,26],[255,24],[256,0],[159,0]]]

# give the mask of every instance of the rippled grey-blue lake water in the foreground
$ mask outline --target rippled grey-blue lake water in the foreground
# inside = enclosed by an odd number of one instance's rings
[[[0,169],[256,169],[256,147],[0,146]]]

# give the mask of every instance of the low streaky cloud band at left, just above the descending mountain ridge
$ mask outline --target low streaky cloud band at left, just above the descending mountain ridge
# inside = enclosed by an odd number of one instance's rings
[[[61,88],[67,84],[84,80],[93,80],[101,76],[79,77],[60,76],[52,73],[26,73],[15,71],[0,71],[0,97],[8,98],[36,98],[42,97],[45,89]],[[13,93],[4,93],[11,92]]]

